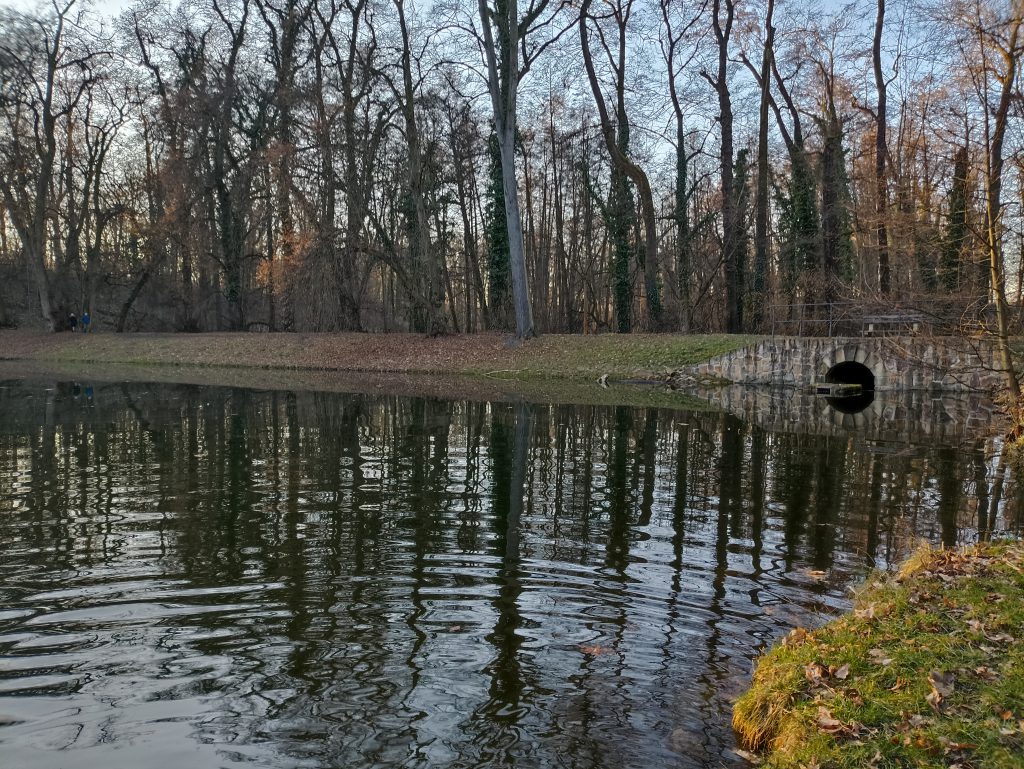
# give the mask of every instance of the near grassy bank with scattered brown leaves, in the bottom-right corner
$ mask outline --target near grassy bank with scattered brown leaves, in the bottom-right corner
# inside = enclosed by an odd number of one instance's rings
[[[1024,767],[1024,545],[919,552],[758,664],[733,726],[783,769]]]

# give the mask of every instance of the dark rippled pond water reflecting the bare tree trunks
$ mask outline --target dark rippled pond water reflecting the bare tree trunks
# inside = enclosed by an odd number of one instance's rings
[[[2,763],[740,765],[759,650],[1021,518],[990,438],[802,425],[0,382]]]

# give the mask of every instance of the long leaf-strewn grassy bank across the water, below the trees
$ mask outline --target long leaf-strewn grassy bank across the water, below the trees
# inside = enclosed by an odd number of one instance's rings
[[[242,367],[462,374],[508,380],[652,379],[751,341],[741,336],[499,334],[41,334],[0,332],[0,359],[53,364]]]

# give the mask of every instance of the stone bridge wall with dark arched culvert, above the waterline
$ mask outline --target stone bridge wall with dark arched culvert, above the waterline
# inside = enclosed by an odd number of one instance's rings
[[[737,384],[849,382],[873,390],[986,391],[998,386],[990,346],[952,337],[770,337],[692,367]]]

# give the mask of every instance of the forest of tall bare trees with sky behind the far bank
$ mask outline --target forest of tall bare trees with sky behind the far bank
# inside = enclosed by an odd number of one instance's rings
[[[0,8],[0,325],[1019,322],[1018,0]],[[831,310],[829,310],[831,311]]]

